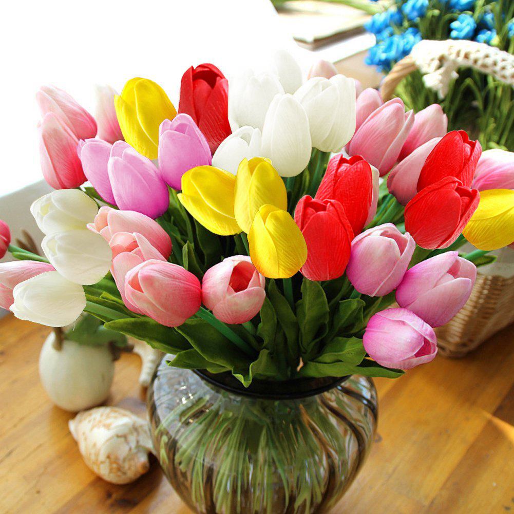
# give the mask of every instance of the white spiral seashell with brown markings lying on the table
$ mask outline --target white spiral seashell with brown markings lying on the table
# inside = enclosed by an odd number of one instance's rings
[[[112,484],[134,482],[150,469],[148,423],[118,407],[97,407],[70,419],[69,431],[87,467]]]

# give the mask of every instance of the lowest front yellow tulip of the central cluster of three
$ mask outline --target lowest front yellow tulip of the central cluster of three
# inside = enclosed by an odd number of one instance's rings
[[[270,279],[292,277],[307,260],[307,245],[291,215],[273,205],[263,205],[248,233],[250,257]]]

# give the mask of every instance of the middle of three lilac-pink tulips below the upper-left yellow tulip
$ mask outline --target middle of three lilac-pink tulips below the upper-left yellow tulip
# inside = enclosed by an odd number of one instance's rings
[[[120,209],[140,212],[151,218],[157,218],[168,209],[170,196],[159,170],[132,146],[124,141],[114,143],[107,170]]]

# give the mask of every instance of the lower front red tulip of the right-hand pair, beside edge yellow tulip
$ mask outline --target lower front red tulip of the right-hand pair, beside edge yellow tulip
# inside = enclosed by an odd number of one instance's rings
[[[420,191],[405,207],[405,230],[423,248],[447,248],[479,205],[480,193],[455,177],[444,177]]]

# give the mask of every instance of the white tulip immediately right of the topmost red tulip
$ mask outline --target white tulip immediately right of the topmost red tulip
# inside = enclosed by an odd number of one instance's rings
[[[278,93],[284,93],[284,88],[278,77],[269,73],[254,75],[249,69],[235,78],[228,90],[228,119],[232,132],[245,125],[262,130],[269,104]]]

